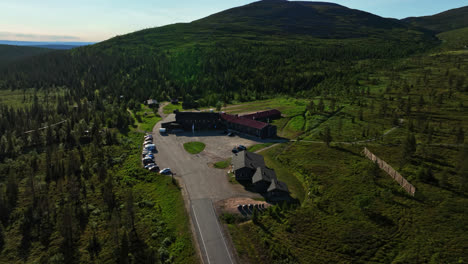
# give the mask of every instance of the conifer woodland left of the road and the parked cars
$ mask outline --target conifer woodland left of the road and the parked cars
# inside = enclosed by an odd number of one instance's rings
[[[178,186],[139,168],[134,105],[93,98],[0,102],[0,263],[193,263]]]

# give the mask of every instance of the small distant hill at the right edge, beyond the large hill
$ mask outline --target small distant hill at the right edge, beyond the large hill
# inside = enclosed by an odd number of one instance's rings
[[[402,21],[437,33],[468,27],[468,6],[451,9],[432,16],[408,17]]]

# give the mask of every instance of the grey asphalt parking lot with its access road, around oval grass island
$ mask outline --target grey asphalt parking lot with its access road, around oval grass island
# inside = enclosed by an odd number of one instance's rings
[[[162,122],[174,119],[173,114]],[[235,135],[230,137],[221,130],[178,133],[160,133],[161,122],[153,129],[156,145],[155,162],[160,168],[171,168],[175,177],[182,179],[187,190],[192,223],[203,258],[207,263],[233,263],[232,252],[226,246],[217,216],[212,213],[212,203],[232,198],[261,198],[257,193],[248,192],[240,184],[228,181],[226,170],[215,169],[210,164],[232,156],[232,149],[238,145],[271,142],[258,138]],[[190,154],[183,145],[187,142],[203,142],[206,147],[199,154]],[[210,224],[207,224],[210,223]]]

